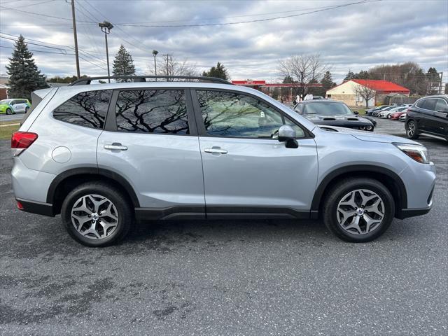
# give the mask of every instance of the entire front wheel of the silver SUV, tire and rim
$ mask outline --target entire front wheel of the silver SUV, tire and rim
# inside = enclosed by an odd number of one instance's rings
[[[351,242],[372,241],[391,225],[395,202],[379,181],[347,179],[334,186],[323,204],[323,221],[337,237]]]

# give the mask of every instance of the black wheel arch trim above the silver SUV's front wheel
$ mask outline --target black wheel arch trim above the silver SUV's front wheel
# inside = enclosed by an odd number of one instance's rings
[[[339,167],[328,173],[314,193],[311,202],[311,214],[318,214],[325,200],[325,195],[336,183],[344,178],[353,177],[368,177],[375,179],[386,186],[393,196],[395,201],[395,216],[400,214],[401,209],[407,208],[407,192],[405,183],[398,174],[392,172],[390,169],[378,167],[373,165],[351,165],[346,167]]]

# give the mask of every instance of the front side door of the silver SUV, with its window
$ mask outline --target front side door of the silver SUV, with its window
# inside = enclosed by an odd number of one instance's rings
[[[309,215],[317,153],[302,127],[262,99],[239,92],[193,90],[193,102],[208,217]],[[276,139],[285,124],[295,129],[298,148]]]

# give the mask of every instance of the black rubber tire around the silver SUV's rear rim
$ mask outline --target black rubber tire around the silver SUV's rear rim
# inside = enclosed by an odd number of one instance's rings
[[[108,237],[101,239],[85,237],[81,235],[73,225],[71,220],[72,208],[80,197],[86,195],[100,195],[106,197],[116,208],[118,223]],[[134,211],[132,205],[127,200],[127,197],[125,197],[125,195],[123,195],[117,188],[103,182],[88,182],[74,188],[69,195],[65,197],[65,200],[62,203],[61,216],[62,222],[64,223],[67,232],[69,232],[69,235],[81,244],[92,247],[109,246],[120,241],[127,235],[134,221]],[[89,223],[90,222],[87,222],[85,225],[88,225]],[[99,223],[97,223],[97,225],[99,225]]]

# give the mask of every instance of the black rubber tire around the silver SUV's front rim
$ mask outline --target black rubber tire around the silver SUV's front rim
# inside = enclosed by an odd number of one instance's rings
[[[371,190],[376,193],[384,204],[384,218],[381,223],[373,228],[372,231],[361,235],[356,235],[348,230],[344,230],[342,225],[339,225],[337,212],[339,202],[350,192],[354,190],[365,189]],[[331,188],[328,196],[325,198],[323,204],[323,222],[330,232],[344,241],[350,241],[353,243],[363,243],[366,241],[372,241],[381,236],[391,225],[393,217],[395,215],[395,202],[390,191],[377,180],[368,178],[354,178],[346,179]],[[363,216],[360,216],[363,218]]]

